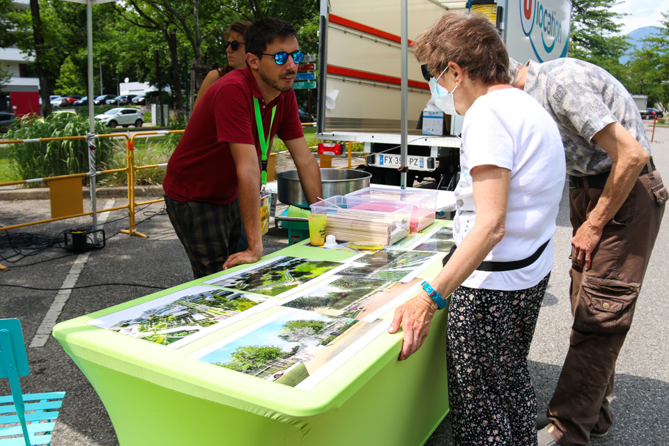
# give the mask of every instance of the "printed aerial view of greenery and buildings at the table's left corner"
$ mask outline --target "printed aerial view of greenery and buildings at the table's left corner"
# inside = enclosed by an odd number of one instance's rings
[[[88,323],[178,348],[272,306],[266,301],[256,295],[192,286]]]

